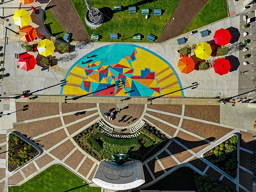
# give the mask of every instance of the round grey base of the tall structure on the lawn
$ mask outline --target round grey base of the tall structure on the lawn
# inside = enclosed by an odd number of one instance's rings
[[[103,23],[103,14],[96,8],[92,8],[93,15],[89,14],[89,10],[86,12],[86,24],[89,27],[97,28]]]

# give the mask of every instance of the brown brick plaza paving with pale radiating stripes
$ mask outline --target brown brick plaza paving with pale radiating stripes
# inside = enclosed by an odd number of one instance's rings
[[[16,110],[29,104],[29,110],[17,113],[14,130],[32,137],[40,143],[44,153],[32,162],[5,174],[0,167],[0,187],[5,183],[20,185],[45,170],[52,164],[62,164],[90,185],[98,167],[98,161],[84,152],[73,140],[73,136],[100,119],[96,103],[24,103],[16,102]],[[140,108],[144,104],[137,104]],[[74,116],[86,110],[86,115]],[[219,105],[147,105],[143,118],[165,135],[172,138],[157,154],[143,162],[146,183],[149,186],[181,166],[189,166],[199,174],[206,174],[224,181],[226,186],[238,191],[252,191],[250,141],[252,133],[220,124]],[[221,169],[202,158],[202,154],[233,134],[244,142],[239,145],[239,169],[236,179],[230,178]],[[6,146],[6,138],[0,146]],[[7,160],[7,154],[0,161]],[[7,185],[6,185],[7,186]]]

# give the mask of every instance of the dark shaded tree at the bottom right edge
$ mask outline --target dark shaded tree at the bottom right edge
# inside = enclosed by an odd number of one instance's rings
[[[222,181],[209,176],[196,176],[195,183],[198,188],[197,192],[230,192],[222,185]]]

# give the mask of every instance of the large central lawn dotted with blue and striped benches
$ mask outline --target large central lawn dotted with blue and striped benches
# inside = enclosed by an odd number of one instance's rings
[[[138,5],[140,0],[113,0],[113,1],[101,1],[95,0],[91,1],[91,6],[99,9],[103,14],[104,18],[112,17],[112,9],[114,6],[120,5],[125,7],[126,10],[113,14],[112,19],[109,22],[103,23],[97,29],[91,29],[85,20],[87,7],[83,0],[72,0],[75,9],[87,30],[89,36],[92,33],[99,34],[102,36],[100,41],[115,41],[115,42],[133,42],[133,34],[140,33],[144,37],[140,42],[150,42],[146,40],[148,33],[160,37],[162,31],[164,30],[170,16],[172,16],[174,10],[176,9],[180,0],[158,0],[151,3],[145,3],[143,5]],[[138,4],[137,4],[138,3]],[[135,5],[137,4],[137,5]],[[128,7],[137,6],[136,13],[129,13]],[[141,9],[149,8],[151,9],[150,18],[145,19],[145,15],[141,14]],[[139,10],[138,10],[139,9]],[[164,13],[162,18],[160,16],[154,16],[154,9],[163,9]],[[123,10],[123,8],[122,8]],[[119,33],[123,40],[110,40],[110,33]],[[131,38],[130,38],[131,37]]]

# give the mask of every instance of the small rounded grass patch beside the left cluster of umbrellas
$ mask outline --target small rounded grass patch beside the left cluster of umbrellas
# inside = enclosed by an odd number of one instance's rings
[[[45,25],[49,33],[57,39],[63,39],[66,31],[61,27],[49,10],[45,11]]]

